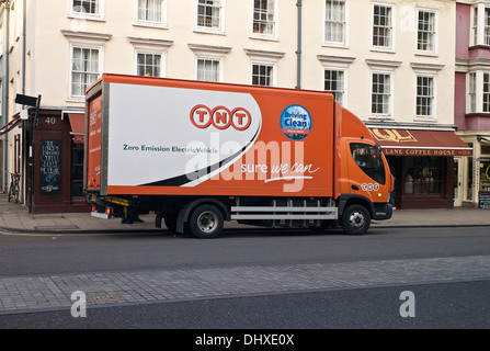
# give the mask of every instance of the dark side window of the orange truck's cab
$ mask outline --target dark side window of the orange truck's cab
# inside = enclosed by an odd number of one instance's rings
[[[376,147],[367,144],[351,144],[351,154],[355,163],[369,178],[380,184],[385,184],[385,166],[380,157],[380,152],[376,151]]]

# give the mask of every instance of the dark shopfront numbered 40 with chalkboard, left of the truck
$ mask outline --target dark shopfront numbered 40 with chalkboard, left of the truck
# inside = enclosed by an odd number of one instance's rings
[[[33,184],[30,194],[26,182],[25,204],[31,202],[32,213],[90,210],[83,195],[83,120],[84,114],[78,111],[39,110],[33,129],[32,179],[31,168],[25,168]],[[26,144],[30,131],[25,131]],[[29,150],[29,145],[24,149]],[[29,159],[27,154],[24,159]]]

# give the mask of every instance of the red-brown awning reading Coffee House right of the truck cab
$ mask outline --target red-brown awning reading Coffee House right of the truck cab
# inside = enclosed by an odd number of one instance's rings
[[[454,131],[375,127],[369,129],[387,156],[472,155],[472,149]]]

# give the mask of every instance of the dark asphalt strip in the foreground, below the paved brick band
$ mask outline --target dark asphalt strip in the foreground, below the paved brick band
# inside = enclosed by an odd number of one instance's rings
[[[414,317],[400,316],[403,291],[414,294]],[[100,307],[86,318],[15,314],[0,316],[0,328],[488,329],[489,316],[490,281],[476,281]]]

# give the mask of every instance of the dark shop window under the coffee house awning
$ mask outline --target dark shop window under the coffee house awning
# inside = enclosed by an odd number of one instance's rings
[[[441,194],[443,192],[444,158],[407,157],[404,169],[406,194]]]

